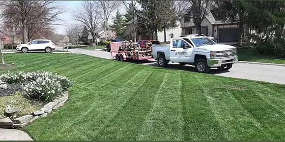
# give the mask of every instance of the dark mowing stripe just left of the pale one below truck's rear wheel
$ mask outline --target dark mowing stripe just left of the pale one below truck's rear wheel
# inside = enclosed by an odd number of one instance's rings
[[[155,92],[164,75],[165,72],[155,69],[149,79],[131,96],[122,111],[98,133],[96,139],[135,140],[151,110]]]

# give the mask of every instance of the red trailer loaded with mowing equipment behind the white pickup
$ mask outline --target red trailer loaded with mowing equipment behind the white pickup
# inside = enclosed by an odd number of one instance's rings
[[[135,45],[133,48],[129,48]],[[152,47],[149,46],[147,49],[140,49],[137,43],[132,42],[114,42],[110,43],[111,46],[111,56],[115,57],[118,61],[125,60],[148,60],[151,59]],[[127,48],[126,48],[127,47]]]

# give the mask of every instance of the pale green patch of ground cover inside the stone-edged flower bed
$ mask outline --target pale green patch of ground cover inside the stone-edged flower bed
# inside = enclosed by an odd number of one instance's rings
[[[34,111],[40,110],[43,105],[40,102],[32,102],[30,99],[22,96],[21,93],[17,92],[14,95],[10,96],[1,96],[0,97],[0,118],[3,118],[4,111],[6,110],[7,104],[13,108],[19,108],[20,111],[17,113],[17,117],[31,114]]]

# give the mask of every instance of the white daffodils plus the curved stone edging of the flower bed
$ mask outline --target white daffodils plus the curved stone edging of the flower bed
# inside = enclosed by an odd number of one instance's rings
[[[73,85],[73,81],[68,80],[64,76],[39,71],[31,73],[8,72],[1,75],[0,80],[11,85],[21,85],[23,87],[21,96],[24,98],[47,103],[42,109],[38,111],[33,110],[30,114],[21,117],[9,116],[7,113],[6,115],[8,117],[0,119],[0,128],[23,127],[37,119],[39,116],[46,116],[47,113],[51,113],[52,110],[57,109],[64,104],[68,99],[68,88]]]

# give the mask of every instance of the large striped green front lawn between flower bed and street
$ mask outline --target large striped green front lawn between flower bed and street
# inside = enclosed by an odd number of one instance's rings
[[[62,108],[24,128],[35,140],[285,139],[284,85],[79,54],[5,58],[75,81]]]

